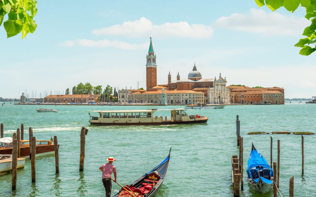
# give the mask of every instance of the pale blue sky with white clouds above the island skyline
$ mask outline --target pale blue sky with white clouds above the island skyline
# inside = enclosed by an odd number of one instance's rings
[[[242,3],[240,3],[242,2]],[[285,98],[316,96],[314,55],[294,47],[305,9],[272,12],[249,1],[38,1],[37,28],[21,40],[0,26],[0,97],[63,93],[80,82],[146,89],[150,37],[157,83],[202,78],[283,87]],[[7,16],[6,16],[7,17]],[[4,21],[6,18],[4,18]],[[313,46],[312,46],[313,47]],[[30,94],[31,97],[31,94]],[[34,95],[35,97],[35,95]]]

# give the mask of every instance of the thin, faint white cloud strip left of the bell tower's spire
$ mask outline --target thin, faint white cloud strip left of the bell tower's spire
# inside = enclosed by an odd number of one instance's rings
[[[137,49],[147,49],[149,46],[149,42],[143,43],[143,44],[130,44],[127,42],[121,42],[121,41],[111,41],[111,40],[87,40],[87,39],[77,39],[77,40],[67,40],[64,43],[59,43],[61,46],[84,46],[84,47],[114,47],[119,49],[131,49],[131,50],[137,50]]]

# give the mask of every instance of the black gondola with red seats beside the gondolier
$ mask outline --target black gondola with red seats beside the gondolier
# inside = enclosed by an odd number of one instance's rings
[[[125,189],[130,191],[136,197],[153,197],[157,194],[159,188],[162,185],[163,180],[167,175],[169,160],[170,160],[169,150],[168,157],[163,160],[154,169],[144,174],[142,177],[131,183],[130,185],[124,186]],[[131,197],[124,188],[121,188],[117,194],[113,197]]]

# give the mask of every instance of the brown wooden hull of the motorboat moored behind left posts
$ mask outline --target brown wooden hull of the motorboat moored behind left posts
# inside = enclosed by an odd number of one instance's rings
[[[59,144],[58,144],[59,147]],[[38,145],[36,146],[36,155],[53,154],[55,153],[54,144],[51,145]],[[12,154],[12,148],[0,149],[0,154]],[[29,157],[30,148],[29,146],[20,148],[20,157]]]

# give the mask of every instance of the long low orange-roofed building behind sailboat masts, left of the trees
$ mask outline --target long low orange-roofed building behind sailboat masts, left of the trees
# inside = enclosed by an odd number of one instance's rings
[[[100,95],[72,94],[72,95],[49,95],[44,98],[44,102],[91,102],[97,101]]]

